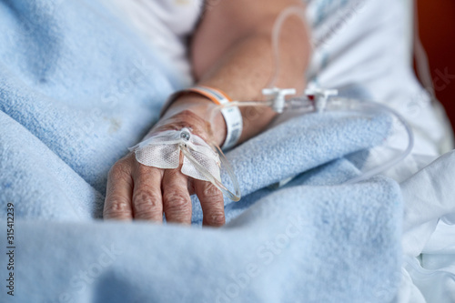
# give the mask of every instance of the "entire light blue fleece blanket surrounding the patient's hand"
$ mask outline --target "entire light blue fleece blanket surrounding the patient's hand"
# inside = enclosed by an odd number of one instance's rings
[[[178,76],[88,0],[2,1],[0,41],[4,230],[8,203],[15,214],[13,238],[0,237],[12,247],[0,257],[2,302],[393,298],[399,187],[341,185],[359,174],[345,156],[380,144],[388,116],[301,116],[229,152],[244,198],[225,202],[225,227],[198,227],[196,197],[195,227],[106,223],[96,219],[106,173],[156,122]]]

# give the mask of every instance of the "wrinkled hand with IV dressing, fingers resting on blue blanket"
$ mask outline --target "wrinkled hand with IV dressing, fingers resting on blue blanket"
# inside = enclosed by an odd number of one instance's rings
[[[194,99],[196,106],[191,110],[178,110],[179,106],[167,111],[165,116],[149,132],[151,136],[164,130],[180,130],[188,127],[191,132],[204,140],[213,139],[212,128],[205,119],[197,115],[207,110],[207,100]],[[184,107],[188,108],[188,102]],[[177,111],[177,114],[176,114]],[[224,123],[224,122],[222,122]],[[220,124],[222,126],[222,124]],[[220,135],[221,134],[221,135]],[[220,144],[223,131],[217,131]],[[204,213],[203,224],[219,227],[225,223],[223,195],[210,182],[187,177],[180,172],[183,157],[176,169],[147,167],[136,161],[134,152],[118,160],[109,171],[107,178],[105,219],[142,219],[161,222],[163,212],[167,222],[190,224],[190,195],[196,194]]]

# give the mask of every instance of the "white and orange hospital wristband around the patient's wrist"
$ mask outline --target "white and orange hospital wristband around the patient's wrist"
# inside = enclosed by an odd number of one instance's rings
[[[229,102],[232,102],[231,98],[227,96],[222,91],[208,86],[193,86],[187,89],[178,91],[177,93],[173,94],[167,100],[166,105],[163,107],[162,114],[167,110],[167,108],[172,104],[174,100],[177,99],[178,96],[186,93],[196,93],[201,96],[206,96],[210,99],[213,103],[218,106],[226,105]],[[225,108],[221,108],[221,115],[223,115],[225,122],[226,122],[226,139],[221,146],[221,149],[227,150],[232,146],[235,146],[238,142],[238,139],[242,135],[243,130],[243,117],[238,109],[238,106],[229,106]]]

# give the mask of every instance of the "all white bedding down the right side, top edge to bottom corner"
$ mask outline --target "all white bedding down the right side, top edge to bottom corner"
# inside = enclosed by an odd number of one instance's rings
[[[308,8],[317,11],[311,5],[323,2],[312,1]],[[453,303],[455,190],[450,180],[455,179],[455,153],[440,157],[451,134],[410,66],[412,2],[363,3],[315,51],[308,79],[327,88],[361,86],[372,100],[396,109],[412,126],[416,144],[411,155],[384,173],[400,182],[405,203],[404,263],[394,303]],[[324,36],[318,30],[314,35]],[[363,169],[379,166],[407,142],[404,130],[398,129],[385,146],[371,151]]]

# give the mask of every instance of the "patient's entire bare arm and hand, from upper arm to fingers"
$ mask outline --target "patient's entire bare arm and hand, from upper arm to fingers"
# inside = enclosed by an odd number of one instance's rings
[[[299,0],[219,1],[204,15],[191,45],[191,61],[198,84],[217,87],[238,101],[258,100],[273,75],[270,44],[272,26],[288,5],[302,5]],[[308,33],[298,17],[284,24],[280,39],[280,75],[276,86],[304,86],[308,64]],[[190,126],[194,132],[221,145],[226,124],[218,114],[207,127],[205,115],[210,104],[193,94],[182,96],[150,133]],[[190,110],[188,110],[190,108]],[[242,108],[244,129],[240,141],[261,132],[275,113],[268,108]],[[208,130],[207,130],[208,128]],[[196,193],[204,212],[204,224],[221,226],[225,222],[223,197],[216,187],[200,180],[188,179],[177,169],[145,167],[134,154],[120,159],[111,169],[107,182],[105,218],[150,219],[191,222],[189,195]]]

